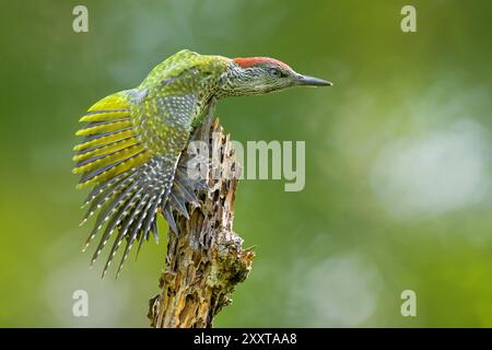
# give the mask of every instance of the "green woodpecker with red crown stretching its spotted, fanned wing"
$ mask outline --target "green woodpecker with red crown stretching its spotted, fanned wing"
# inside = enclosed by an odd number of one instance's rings
[[[73,149],[73,173],[81,174],[78,188],[93,187],[83,205],[89,209],[82,223],[97,213],[83,250],[103,232],[91,266],[115,234],[103,277],[127,241],[118,276],[136,242],[140,249],[150,233],[157,241],[159,213],[177,232],[172,212],[176,209],[187,217],[186,203],[196,201],[199,186],[179,173],[178,161],[194,128],[204,114],[213,114],[218,98],[297,85],[331,83],[300,74],[273,58],[230,59],[181,50],[157,65],[139,86],[90,107],[75,133],[83,140]]]

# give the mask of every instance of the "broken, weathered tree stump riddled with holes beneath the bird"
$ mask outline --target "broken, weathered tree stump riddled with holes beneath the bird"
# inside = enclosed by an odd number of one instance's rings
[[[150,300],[152,327],[211,327],[251,269],[255,254],[244,250],[243,240],[233,232],[241,167],[229,136],[218,120],[212,125],[211,120],[207,118],[195,133],[215,160],[207,171],[209,188],[200,195],[200,205],[190,208],[189,220],[174,211],[178,234],[169,230],[161,292]]]

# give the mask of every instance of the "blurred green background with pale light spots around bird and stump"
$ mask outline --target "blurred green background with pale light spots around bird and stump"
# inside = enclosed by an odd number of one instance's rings
[[[77,4],[89,33],[72,31]],[[400,30],[403,4],[417,33]],[[0,326],[148,326],[165,242],[118,280],[99,279],[104,259],[90,270],[71,148],[91,104],[183,48],[271,56],[335,83],[219,103],[235,140],[304,140],[306,186],[239,184],[235,231],[257,258],[216,326],[492,326],[491,12],[444,0],[1,1]],[[79,289],[89,317],[72,316]],[[417,317],[400,314],[403,290]]]

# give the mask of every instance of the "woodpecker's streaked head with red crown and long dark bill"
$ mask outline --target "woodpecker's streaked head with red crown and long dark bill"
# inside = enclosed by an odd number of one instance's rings
[[[329,81],[303,75],[274,58],[234,58],[223,90],[227,95],[258,95],[291,86],[331,86]]]

